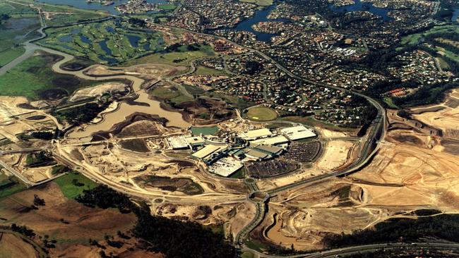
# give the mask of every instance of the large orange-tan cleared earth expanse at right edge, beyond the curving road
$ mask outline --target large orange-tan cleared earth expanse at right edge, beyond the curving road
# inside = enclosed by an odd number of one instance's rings
[[[410,146],[387,146],[352,178],[381,185],[359,184],[366,204],[424,206],[459,211],[458,156]],[[390,186],[384,184],[397,184]]]

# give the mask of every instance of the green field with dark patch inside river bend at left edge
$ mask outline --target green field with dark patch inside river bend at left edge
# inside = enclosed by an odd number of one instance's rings
[[[71,75],[54,73],[51,69],[56,56],[37,55],[18,64],[0,76],[0,94],[24,96],[29,99],[60,98],[73,93],[79,87],[98,82],[85,81]]]

